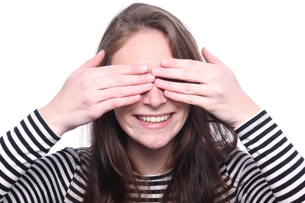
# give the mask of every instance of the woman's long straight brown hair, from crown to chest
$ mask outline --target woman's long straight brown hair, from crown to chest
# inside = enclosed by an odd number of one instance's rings
[[[108,24],[97,50],[105,50],[101,66],[110,65],[112,55],[134,33],[150,29],[165,34],[173,58],[203,61],[196,41],[178,18],[157,6],[136,3],[118,13]],[[140,173],[126,153],[125,136],[113,110],[93,121],[83,202],[126,202],[127,183],[133,184],[139,195],[135,180],[139,176],[135,172]],[[175,139],[173,159],[167,163],[173,167],[172,178],[162,202],[214,202],[218,198],[216,190],[226,189],[220,165],[236,148],[237,136],[233,128],[191,105],[188,119]],[[133,200],[143,201],[140,197]]]

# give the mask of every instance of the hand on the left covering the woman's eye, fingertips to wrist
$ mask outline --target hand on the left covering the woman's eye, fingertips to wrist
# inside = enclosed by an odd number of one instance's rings
[[[117,107],[134,104],[140,94],[152,88],[155,76],[145,74],[147,66],[99,66],[105,57],[100,51],[66,80],[56,96],[40,114],[58,135],[87,124]],[[140,71],[139,67],[146,67]]]

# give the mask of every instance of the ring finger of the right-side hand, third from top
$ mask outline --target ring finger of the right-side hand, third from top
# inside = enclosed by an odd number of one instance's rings
[[[156,87],[168,90],[171,92],[177,92],[182,94],[194,94],[201,96],[211,96],[215,91],[211,87],[205,84],[194,84],[194,83],[180,83],[180,82],[170,82],[166,80],[161,80],[157,78],[154,82]]]

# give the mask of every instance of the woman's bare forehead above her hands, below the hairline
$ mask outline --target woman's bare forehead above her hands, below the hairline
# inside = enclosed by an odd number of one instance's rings
[[[158,30],[136,32],[111,59],[111,64],[146,64],[161,66],[163,58],[172,58],[165,35]]]

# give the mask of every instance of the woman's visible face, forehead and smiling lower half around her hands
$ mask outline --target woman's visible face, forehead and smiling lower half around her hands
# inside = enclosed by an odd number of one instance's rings
[[[111,64],[146,64],[150,73],[152,67],[161,66],[163,58],[172,58],[163,33],[142,31],[133,35],[113,55]],[[167,98],[164,90],[154,83],[151,90],[141,94],[137,103],[114,109],[119,125],[132,138],[129,140],[149,149],[159,149],[173,142],[172,139],[185,124],[189,112],[190,105]],[[150,121],[147,122],[148,120]]]

